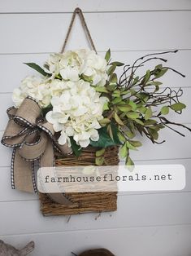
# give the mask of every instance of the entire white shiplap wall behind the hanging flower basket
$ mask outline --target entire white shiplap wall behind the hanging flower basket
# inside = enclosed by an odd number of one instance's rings
[[[188,105],[175,121],[191,126],[191,1],[190,0],[0,0],[0,131],[5,110],[11,105],[11,91],[26,74],[23,62],[42,63],[50,52],[59,51],[72,11],[81,7],[100,54],[111,48],[114,60],[132,63],[150,51],[180,49],[169,55],[169,65],[186,78],[169,73],[164,84],[184,87]],[[69,48],[87,46],[76,20]],[[118,211],[66,217],[42,217],[37,196],[12,191],[9,180],[11,152],[0,154],[0,239],[22,246],[33,240],[32,255],[69,256],[71,251],[106,247],[117,256],[191,255],[191,136],[182,138],[162,132],[162,145],[144,139],[140,152],[132,154],[137,163],[180,163],[186,168],[186,187],[181,192],[129,192],[119,196]]]

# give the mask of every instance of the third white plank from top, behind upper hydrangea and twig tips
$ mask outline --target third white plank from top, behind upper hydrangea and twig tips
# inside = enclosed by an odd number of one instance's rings
[[[105,53],[99,52],[99,54],[104,56]],[[112,51],[111,58],[113,61],[118,60],[125,64],[132,64],[141,56],[148,54],[150,54],[150,51]],[[34,62],[42,66],[48,56],[48,54],[0,55],[0,66],[2,67],[0,93],[11,92],[20,85],[21,80],[27,75],[38,75],[32,68],[28,68],[24,64],[25,62]],[[179,51],[176,54],[163,55],[163,57],[168,60],[167,64],[164,65],[175,68],[186,76],[183,78],[169,71],[160,79],[163,86],[191,87],[191,73],[188,64],[191,59],[191,50]],[[140,68],[137,74],[141,76],[148,68],[154,68],[156,64],[160,63],[160,60],[153,60],[150,64],[146,64],[144,68]],[[123,68],[118,68],[117,73],[120,76],[123,73]]]

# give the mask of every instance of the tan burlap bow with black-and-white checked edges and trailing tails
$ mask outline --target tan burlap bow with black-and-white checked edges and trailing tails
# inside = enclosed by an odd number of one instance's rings
[[[60,146],[54,138],[53,126],[43,120],[41,108],[28,97],[20,108],[7,109],[9,121],[2,144],[13,148],[11,159],[11,186],[25,192],[37,192],[34,162],[40,167],[54,166],[54,148],[63,155],[71,153],[67,144]],[[63,193],[49,196],[61,204],[71,204]]]

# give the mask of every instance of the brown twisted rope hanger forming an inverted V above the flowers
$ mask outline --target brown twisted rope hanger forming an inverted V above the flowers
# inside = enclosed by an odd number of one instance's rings
[[[63,51],[66,48],[67,41],[68,41],[68,38],[69,38],[71,30],[72,30],[72,26],[73,26],[74,20],[76,18],[76,14],[79,15],[79,17],[80,17],[81,25],[82,25],[82,27],[85,30],[86,36],[89,39],[89,42],[90,42],[90,45],[92,46],[93,51],[95,51],[97,53],[96,48],[95,48],[94,43],[93,43],[93,39],[92,39],[92,37],[90,35],[90,32],[89,32],[88,26],[87,26],[87,24],[85,22],[85,16],[83,15],[83,12],[81,11],[81,9],[78,8],[78,7],[73,12],[72,20],[71,20],[71,23],[69,25],[69,28],[67,29],[67,36],[65,38],[65,41],[63,42],[63,47],[62,47],[61,53],[63,53]]]

